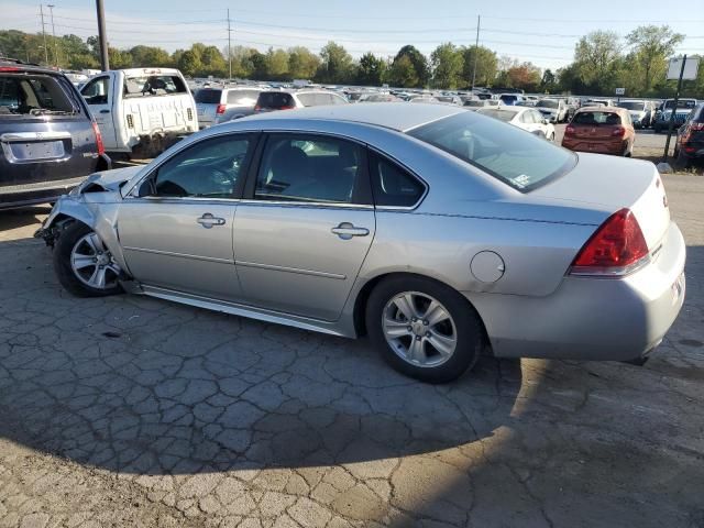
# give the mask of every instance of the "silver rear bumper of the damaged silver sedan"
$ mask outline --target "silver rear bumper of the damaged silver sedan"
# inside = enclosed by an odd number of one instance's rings
[[[496,356],[634,360],[662,341],[682,308],[685,251],[672,223],[653,262],[625,278],[568,276],[547,297],[466,297]]]

